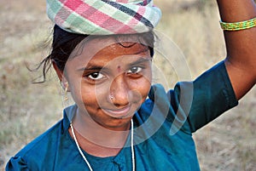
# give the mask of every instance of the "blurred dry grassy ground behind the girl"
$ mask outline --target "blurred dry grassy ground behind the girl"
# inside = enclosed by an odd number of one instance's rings
[[[192,79],[225,56],[218,8],[212,0],[154,0],[163,18],[157,30],[182,50]],[[62,117],[61,86],[53,70],[45,83],[32,72],[49,53],[52,24],[44,0],[0,0],[0,170],[9,157]],[[159,61],[160,63],[160,61]],[[162,70],[178,77],[160,63]],[[42,79],[41,79],[42,80]],[[197,131],[201,170],[256,170],[256,91],[235,109]]]

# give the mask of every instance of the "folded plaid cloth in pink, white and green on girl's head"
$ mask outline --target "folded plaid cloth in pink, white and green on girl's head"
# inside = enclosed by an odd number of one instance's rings
[[[146,32],[161,17],[153,0],[47,0],[47,14],[63,30],[87,35]]]

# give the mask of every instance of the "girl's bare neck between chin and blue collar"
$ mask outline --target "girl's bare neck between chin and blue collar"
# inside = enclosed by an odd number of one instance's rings
[[[129,122],[121,131],[120,128],[118,130],[103,128],[90,117],[79,112],[73,118],[73,128],[79,145],[84,151],[96,157],[116,156],[125,145],[130,127]],[[71,130],[69,133],[71,134]]]

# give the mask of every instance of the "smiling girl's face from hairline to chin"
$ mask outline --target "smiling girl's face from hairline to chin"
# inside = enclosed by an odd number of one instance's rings
[[[67,61],[64,73],[79,114],[104,128],[123,130],[148,96],[151,57],[140,43],[93,39]]]

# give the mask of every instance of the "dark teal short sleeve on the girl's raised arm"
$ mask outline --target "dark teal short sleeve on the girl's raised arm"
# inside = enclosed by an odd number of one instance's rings
[[[182,91],[184,91],[183,94],[190,96],[182,95]],[[210,123],[224,111],[238,105],[224,61],[204,72],[192,84],[178,83],[174,88],[174,93],[178,94],[179,104],[182,105],[183,111],[188,113],[187,123],[190,133]],[[182,101],[185,102],[182,103]]]

